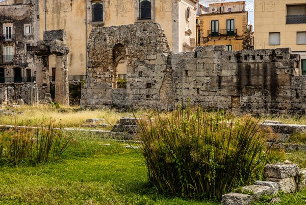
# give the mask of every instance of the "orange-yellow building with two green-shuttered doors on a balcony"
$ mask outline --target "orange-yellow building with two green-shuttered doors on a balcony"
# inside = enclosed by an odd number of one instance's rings
[[[200,14],[200,45],[226,45],[228,51],[253,49],[245,1],[209,4]]]

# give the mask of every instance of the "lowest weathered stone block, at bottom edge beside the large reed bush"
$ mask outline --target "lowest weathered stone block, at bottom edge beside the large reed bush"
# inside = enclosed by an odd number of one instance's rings
[[[247,194],[229,193],[222,196],[222,205],[248,205],[252,202],[252,196]]]

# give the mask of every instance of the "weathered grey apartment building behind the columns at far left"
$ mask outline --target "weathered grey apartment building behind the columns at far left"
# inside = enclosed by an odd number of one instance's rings
[[[32,0],[0,1],[0,83],[34,81],[34,56],[27,46],[39,40],[36,11]]]

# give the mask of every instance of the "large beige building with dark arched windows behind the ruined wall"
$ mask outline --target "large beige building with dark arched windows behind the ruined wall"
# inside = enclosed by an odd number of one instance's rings
[[[40,1],[40,36],[46,30],[66,30],[69,75],[86,75],[86,46],[90,31],[97,27],[158,22],[172,52],[192,51],[196,46],[197,0],[78,0]],[[118,73],[125,73],[124,62]],[[55,76],[55,57],[49,57],[50,75]]]

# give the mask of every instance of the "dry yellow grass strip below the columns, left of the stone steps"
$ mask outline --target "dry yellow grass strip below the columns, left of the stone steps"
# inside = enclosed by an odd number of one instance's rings
[[[18,114],[18,112],[22,112]],[[14,108],[14,115],[1,115],[2,125],[48,125],[50,119],[61,121],[63,127],[81,127],[86,123],[86,119],[105,118],[107,123],[113,125],[121,117],[131,115],[131,113],[116,112],[114,109],[80,109],[79,107],[55,108],[51,105],[21,106]]]

